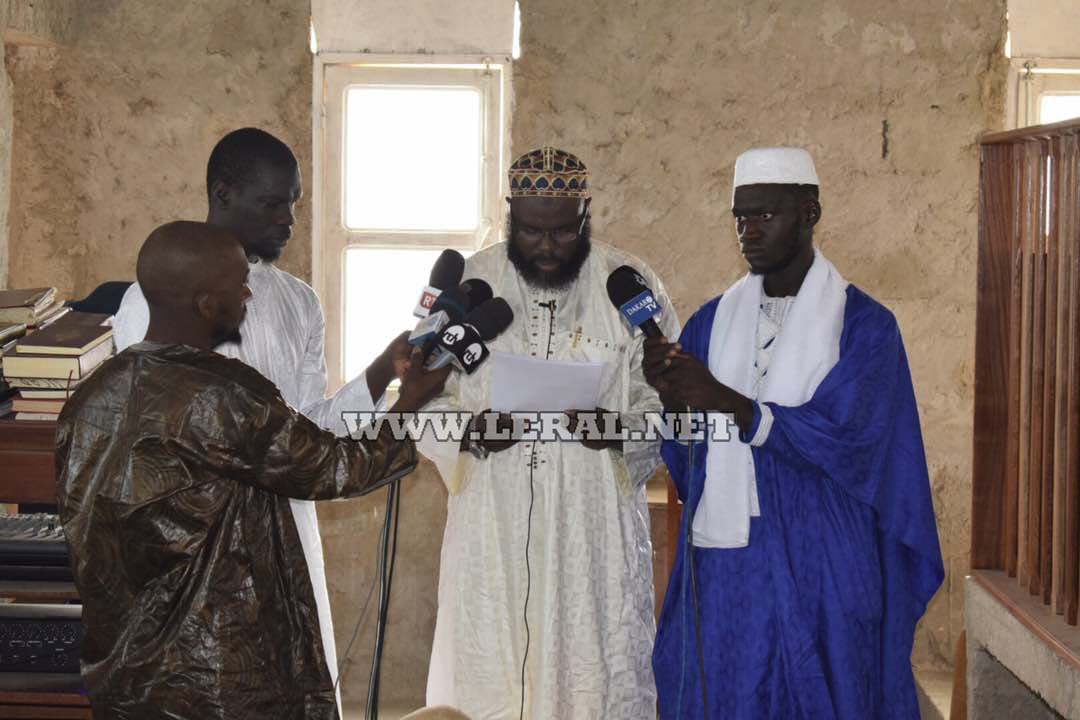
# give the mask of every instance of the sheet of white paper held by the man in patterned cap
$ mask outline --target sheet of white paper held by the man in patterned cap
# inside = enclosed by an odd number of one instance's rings
[[[599,402],[604,363],[543,361],[491,353],[491,409],[497,412],[591,410]]]

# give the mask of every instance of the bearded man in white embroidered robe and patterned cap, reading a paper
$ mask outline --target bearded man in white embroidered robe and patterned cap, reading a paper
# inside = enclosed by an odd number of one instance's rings
[[[674,332],[662,284],[636,258],[590,242],[588,176],[577,158],[535,150],[510,178],[509,241],[469,258],[464,274],[487,281],[514,311],[489,348],[605,363],[599,405],[620,412],[627,429],[642,427],[642,413],[660,402],[642,371],[643,338],[605,286],[616,268],[638,269],[664,309],[660,325]],[[490,366],[451,376],[426,409],[486,410]],[[651,720],[645,483],[659,465],[659,444],[475,445],[418,443],[449,489],[428,704],[473,720],[517,718],[523,709],[534,720]]]

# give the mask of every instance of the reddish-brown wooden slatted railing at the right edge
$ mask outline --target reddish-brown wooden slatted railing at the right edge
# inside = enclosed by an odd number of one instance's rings
[[[1080,121],[980,145],[971,562],[1076,625]]]

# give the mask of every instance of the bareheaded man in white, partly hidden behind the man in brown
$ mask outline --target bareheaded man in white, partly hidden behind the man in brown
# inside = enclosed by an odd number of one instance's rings
[[[325,430],[345,435],[341,413],[375,409],[390,381],[404,371],[407,332],[395,338],[363,375],[326,397],[325,322],[319,297],[310,285],[273,264],[293,234],[294,209],[302,193],[296,157],[287,145],[261,130],[234,131],[211,152],[206,192],[206,222],[235,233],[252,263],[247,281],[252,299],[241,325],[244,341],[227,342],[217,352],[252,366],[278,385],[294,408]],[[141,289],[132,285],[113,321],[118,352],[141,342],[149,318]],[[315,505],[306,500],[291,502],[314,590],[327,670],[336,679],[334,626]]]

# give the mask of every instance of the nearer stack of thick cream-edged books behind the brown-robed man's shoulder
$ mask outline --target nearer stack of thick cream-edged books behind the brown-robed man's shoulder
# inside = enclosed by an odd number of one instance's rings
[[[56,420],[79,384],[112,356],[109,315],[70,312],[15,341],[3,376],[17,394],[16,420]]]

